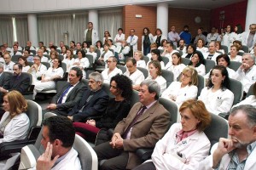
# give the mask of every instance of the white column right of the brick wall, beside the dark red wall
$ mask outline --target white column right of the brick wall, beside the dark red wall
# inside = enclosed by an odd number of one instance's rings
[[[163,35],[168,33],[168,3],[157,4],[156,27],[160,28]]]

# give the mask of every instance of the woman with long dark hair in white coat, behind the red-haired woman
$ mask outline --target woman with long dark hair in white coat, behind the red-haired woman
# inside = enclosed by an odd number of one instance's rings
[[[204,102],[207,111],[215,115],[229,112],[233,105],[234,94],[230,91],[228,71],[222,65],[215,65],[210,72],[209,80],[198,99]]]

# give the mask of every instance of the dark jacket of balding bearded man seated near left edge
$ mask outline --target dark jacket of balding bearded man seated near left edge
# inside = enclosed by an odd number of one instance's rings
[[[9,91],[17,90],[21,94],[25,94],[30,86],[30,77],[26,74],[21,73],[20,77],[12,76],[9,82],[3,84],[3,88]]]

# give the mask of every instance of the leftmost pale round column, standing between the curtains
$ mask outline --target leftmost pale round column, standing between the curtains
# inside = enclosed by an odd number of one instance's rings
[[[38,20],[36,14],[27,14],[28,38],[32,46],[38,47]]]

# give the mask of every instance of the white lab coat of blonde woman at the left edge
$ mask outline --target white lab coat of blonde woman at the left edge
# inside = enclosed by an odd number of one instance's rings
[[[1,119],[0,127],[3,126],[3,122],[8,118],[8,116],[9,111],[6,111]],[[20,113],[19,115],[13,117],[4,128],[3,139],[0,139],[0,144],[3,142],[26,139],[29,125],[30,122],[28,116],[26,116],[26,113]]]

